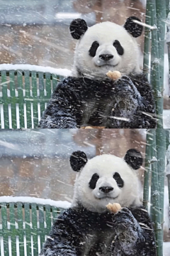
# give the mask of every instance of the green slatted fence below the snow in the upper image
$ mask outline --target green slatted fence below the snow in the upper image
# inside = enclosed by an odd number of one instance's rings
[[[30,70],[0,71],[0,129],[37,128],[60,75]]]

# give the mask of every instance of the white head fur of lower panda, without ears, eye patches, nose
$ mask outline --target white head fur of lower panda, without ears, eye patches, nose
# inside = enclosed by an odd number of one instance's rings
[[[119,188],[113,178],[113,174],[118,172],[124,181],[123,188]],[[93,174],[100,177],[96,183],[96,188],[89,188],[89,181]],[[113,191],[107,194],[107,198],[99,191],[101,186],[111,186]],[[90,159],[84,168],[77,174],[74,186],[74,198],[72,206],[81,203],[85,208],[102,213],[106,210],[108,203],[120,203],[122,207],[130,205],[140,205],[138,189],[138,179],[135,171],[128,166],[124,159],[118,156],[103,154]]]

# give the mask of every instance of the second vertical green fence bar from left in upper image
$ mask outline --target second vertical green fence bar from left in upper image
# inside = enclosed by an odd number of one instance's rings
[[[16,129],[16,83],[15,83],[15,75],[14,71],[9,71],[9,85],[10,85],[10,94],[11,94],[11,117],[12,117],[12,128]]]

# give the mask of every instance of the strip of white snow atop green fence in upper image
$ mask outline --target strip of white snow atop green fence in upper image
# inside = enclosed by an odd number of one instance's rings
[[[30,70],[36,72],[51,73],[55,75],[63,75],[64,77],[72,75],[72,71],[68,70],[67,68],[51,68],[30,64],[0,64],[0,70]]]

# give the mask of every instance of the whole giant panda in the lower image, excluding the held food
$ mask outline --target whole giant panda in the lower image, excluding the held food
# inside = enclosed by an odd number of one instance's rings
[[[142,155],[129,149],[124,159],[113,155],[87,160],[82,151],[70,157],[77,171],[72,207],[55,221],[42,247],[44,256],[156,256],[152,223],[141,206],[135,170]],[[118,213],[108,203],[120,203]]]

